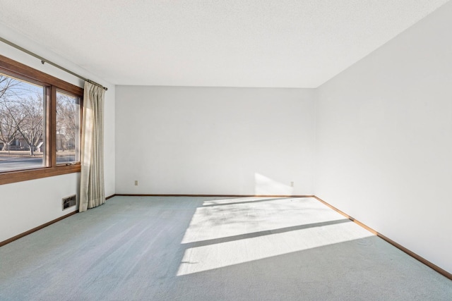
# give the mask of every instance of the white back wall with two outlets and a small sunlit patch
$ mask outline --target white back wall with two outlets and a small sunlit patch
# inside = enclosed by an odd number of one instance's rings
[[[314,90],[117,86],[116,112],[117,193],[313,192]]]

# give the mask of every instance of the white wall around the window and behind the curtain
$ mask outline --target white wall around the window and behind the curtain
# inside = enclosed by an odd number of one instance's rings
[[[19,35],[17,32],[13,32],[13,30],[10,30],[4,25],[0,25],[0,36],[39,54],[45,59],[49,59],[69,70],[73,70],[75,73],[86,76],[108,87],[108,91],[105,94],[105,194],[113,195],[114,85],[95,77],[86,70],[61,58],[61,56],[57,56],[52,51],[41,47],[30,41],[30,39]],[[40,60],[18,51],[3,42],[0,42],[0,54],[37,70],[41,70],[44,73],[66,80],[66,82],[71,82],[73,85],[83,87],[82,80],[49,64],[42,65]],[[79,178],[79,173],[72,173],[64,176],[0,185],[0,242],[74,211],[74,209],[62,211],[61,198],[78,192]]]

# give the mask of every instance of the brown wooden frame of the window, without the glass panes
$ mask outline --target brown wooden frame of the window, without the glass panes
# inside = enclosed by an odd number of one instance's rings
[[[76,97],[80,97],[80,125],[83,116],[83,88],[72,85],[69,82],[55,78],[52,75],[43,73],[29,66],[8,59],[0,55],[0,70],[6,74],[11,74],[17,78],[35,82],[47,88],[47,99],[44,100],[44,166],[29,169],[0,172],[0,185],[16,183],[25,180],[35,180],[59,176],[68,173],[78,173],[81,170],[80,162],[71,164],[57,164],[57,90],[68,92]],[[81,137],[81,127],[79,132]],[[81,143],[81,140],[79,140]],[[79,145],[79,152],[81,145]],[[80,158],[80,156],[79,156]]]

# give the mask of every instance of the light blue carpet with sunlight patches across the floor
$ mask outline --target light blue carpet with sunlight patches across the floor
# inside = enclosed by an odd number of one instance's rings
[[[0,247],[0,300],[452,300],[311,198],[114,197]]]

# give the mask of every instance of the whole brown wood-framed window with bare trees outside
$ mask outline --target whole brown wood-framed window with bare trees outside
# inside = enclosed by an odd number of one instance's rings
[[[0,56],[0,184],[80,171],[82,95]]]

